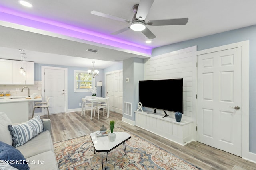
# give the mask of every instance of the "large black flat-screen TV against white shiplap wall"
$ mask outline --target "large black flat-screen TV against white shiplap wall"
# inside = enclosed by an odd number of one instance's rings
[[[183,79],[139,81],[139,101],[142,107],[183,114]]]

